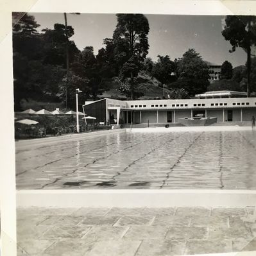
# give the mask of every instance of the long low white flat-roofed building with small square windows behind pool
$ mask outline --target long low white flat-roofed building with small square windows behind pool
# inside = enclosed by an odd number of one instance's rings
[[[192,118],[196,115],[217,117],[217,122],[251,121],[253,115],[256,117],[256,98],[105,98],[86,102],[83,112],[96,117],[97,122],[108,124],[178,123],[179,118]]]

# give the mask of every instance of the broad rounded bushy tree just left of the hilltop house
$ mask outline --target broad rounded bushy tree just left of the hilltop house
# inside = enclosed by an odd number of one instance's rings
[[[209,67],[194,49],[186,51],[176,60],[178,80],[169,84],[170,88],[183,88],[189,96],[205,92],[209,85]]]

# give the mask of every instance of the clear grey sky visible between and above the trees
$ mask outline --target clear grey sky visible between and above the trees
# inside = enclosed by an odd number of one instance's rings
[[[43,28],[53,28],[55,23],[64,24],[63,13],[30,13]],[[171,60],[182,57],[189,48],[194,48],[203,60],[214,64],[223,64],[228,60],[233,67],[244,65],[246,53],[232,48],[221,31],[225,24],[225,16],[204,15],[152,15],[146,14],[149,22],[149,53],[154,61],[157,55],[169,55]],[[78,49],[86,46],[94,47],[94,54],[103,47],[103,39],[111,38],[117,19],[115,14],[67,13],[67,23],[73,26],[74,40]]]

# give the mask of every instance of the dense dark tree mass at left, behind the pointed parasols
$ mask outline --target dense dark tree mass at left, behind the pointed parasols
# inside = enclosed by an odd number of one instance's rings
[[[16,16],[21,17],[20,13],[13,16],[13,21]],[[105,79],[113,74],[100,53],[94,56],[92,47],[80,51],[70,40],[74,35],[72,26],[55,24],[41,33],[39,26],[28,13],[13,22],[15,110],[21,110],[22,99],[30,98],[62,101],[71,108],[76,88],[83,90],[81,102],[96,99],[106,89]]]

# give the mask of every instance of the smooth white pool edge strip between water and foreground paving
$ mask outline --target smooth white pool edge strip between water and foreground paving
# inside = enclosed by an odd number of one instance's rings
[[[211,189],[21,190],[18,207],[246,207],[256,191]]]

